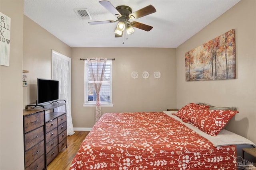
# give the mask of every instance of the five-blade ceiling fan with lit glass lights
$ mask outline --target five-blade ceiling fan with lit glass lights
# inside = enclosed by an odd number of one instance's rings
[[[150,31],[153,27],[150,25],[146,25],[144,23],[139,23],[136,21],[130,22],[129,20],[134,20],[141,18],[143,16],[147,16],[149,14],[152,14],[156,12],[156,9],[154,6],[149,5],[146,6],[138,11],[132,12],[132,8],[129,6],[121,5],[117,6],[116,8],[106,0],[99,1],[99,3],[104,6],[109,12],[111,12],[114,16],[116,16],[117,20],[109,20],[109,21],[94,21],[94,22],[88,22],[90,25],[95,25],[95,24],[101,24],[101,23],[114,23],[118,22],[117,27],[115,29],[115,37],[122,37],[124,34],[124,30],[126,30],[127,34],[131,34],[134,32],[133,27],[145,30],[145,31]]]

